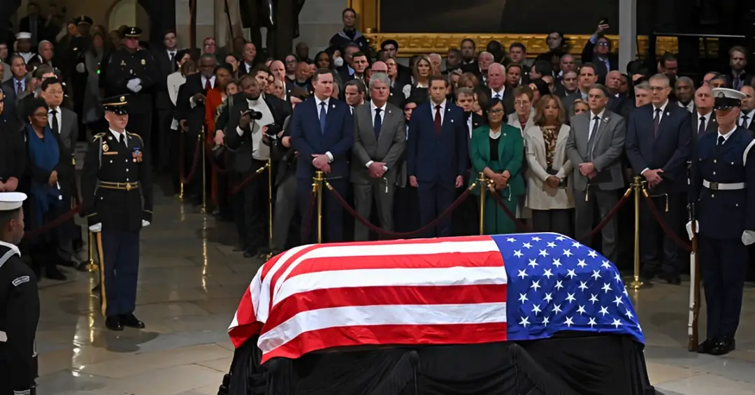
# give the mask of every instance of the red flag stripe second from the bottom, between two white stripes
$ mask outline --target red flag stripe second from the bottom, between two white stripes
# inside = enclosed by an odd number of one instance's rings
[[[415,285],[315,289],[291,295],[276,304],[263,333],[275,329],[297,313],[331,307],[400,304],[480,304],[506,301],[506,284]],[[337,324],[337,322],[334,322]]]

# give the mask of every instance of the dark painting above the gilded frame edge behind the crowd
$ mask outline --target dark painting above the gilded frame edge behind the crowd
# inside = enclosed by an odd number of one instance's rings
[[[637,23],[642,34],[643,3]],[[380,0],[380,32],[590,34],[608,18],[618,33],[618,0]]]

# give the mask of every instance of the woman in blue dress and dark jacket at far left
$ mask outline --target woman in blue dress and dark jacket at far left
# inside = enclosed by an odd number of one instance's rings
[[[48,106],[42,98],[35,98],[26,106],[26,186],[31,204],[27,205],[29,221],[26,231],[39,229],[60,217],[70,202],[73,177],[71,153],[66,151],[57,133],[48,125]],[[57,227],[29,240],[32,264],[37,273],[45,268],[49,279],[65,280],[56,264],[63,264],[58,255],[60,231]]]

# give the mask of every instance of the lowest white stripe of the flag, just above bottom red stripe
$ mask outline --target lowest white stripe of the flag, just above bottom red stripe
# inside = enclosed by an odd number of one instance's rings
[[[263,353],[269,353],[305,332],[339,326],[453,325],[494,322],[506,322],[505,302],[331,307],[297,313],[286,322],[260,335],[257,345]]]

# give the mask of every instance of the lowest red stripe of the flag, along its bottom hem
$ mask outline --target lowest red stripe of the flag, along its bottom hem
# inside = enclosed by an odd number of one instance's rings
[[[278,356],[296,359],[331,347],[391,344],[480,344],[506,341],[506,322],[442,325],[341,326],[303,333],[265,353],[262,362]]]

